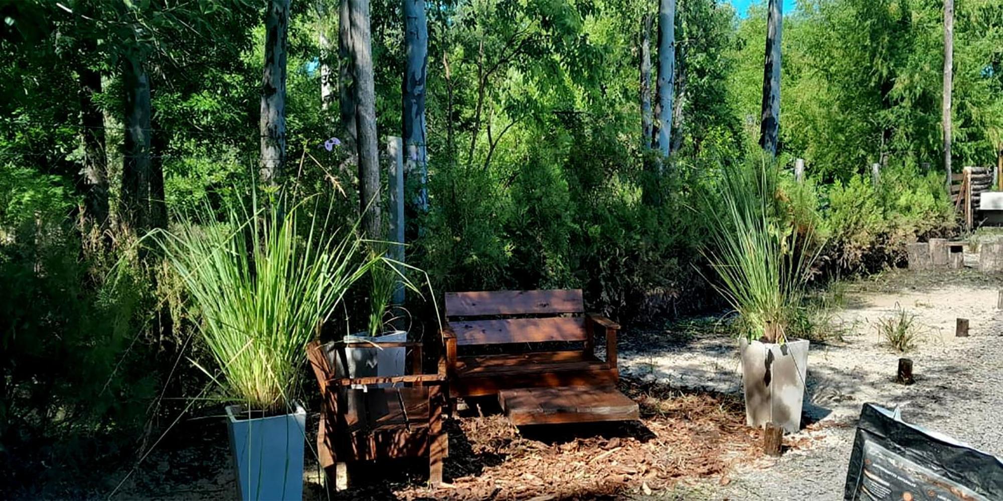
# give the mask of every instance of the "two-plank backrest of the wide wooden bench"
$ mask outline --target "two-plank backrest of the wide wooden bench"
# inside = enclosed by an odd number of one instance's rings
[[[580,315],[584,313],[578,289],[445,295],[446,320],[456,334],[457,346],[585,341],[585,319]],[[534,318],[508,318],[519,316]]]

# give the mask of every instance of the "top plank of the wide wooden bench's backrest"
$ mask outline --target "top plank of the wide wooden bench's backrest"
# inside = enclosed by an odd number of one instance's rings
[[[582,290],[446,293],[447,317],[584,313]]]

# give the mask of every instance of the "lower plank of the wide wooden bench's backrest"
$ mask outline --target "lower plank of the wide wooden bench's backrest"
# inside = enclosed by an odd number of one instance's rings
[[[580,317],[450,322],[449,326],[456,333],[458,346],[585,341],[586,338],[585,320]]]

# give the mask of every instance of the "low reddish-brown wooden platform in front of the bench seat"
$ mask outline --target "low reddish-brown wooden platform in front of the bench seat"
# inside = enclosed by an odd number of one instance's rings
[[[517,426],[639,419],[637,403],[612,386],[504,390],[498,404]]]

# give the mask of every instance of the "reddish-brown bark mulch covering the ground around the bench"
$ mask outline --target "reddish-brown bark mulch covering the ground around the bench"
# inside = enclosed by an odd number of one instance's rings
[[[760,434],[745,426],[740,397],[681,392],[623,380],[641,407],[635,423],[512,426],[494,414],[447,422],[449,458],[437,489],[422,485],[424,470],[367,468],[354,488],[333,498],[595,499],[650,495],[681,481],[729,482],[731,465],[761,455]],[[397,470],[396,478],[388,478]],[[370,474],[373,473],[373,474]],[[356,482],[361,480],[361,484]],[[323,498],[324,496],[320,496]]]

